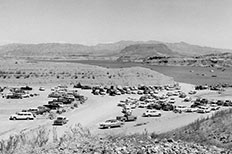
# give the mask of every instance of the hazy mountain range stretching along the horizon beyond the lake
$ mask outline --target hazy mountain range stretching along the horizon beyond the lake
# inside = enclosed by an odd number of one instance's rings
[[[163,44],[162,47],[157,44]],[[132,46],[135,45],[135,46]],[[7,57],[42,57],[42,58],[73,58],[78,57],[120,57],[124,51],[139,47],[133,51],[137,54],[154,53],[157,51],[159,55],[172,55],[178,53],[179,55],[194,56],[212,53],[231,52],[232,50],[217,49],[210,47],[201,47],[198,45],[191,45],[188,43],[164,43],[159,41],[120,41],[116,43],[98,44],[95,46],[86,46],[81,44],[69,43],[41,43],[41,44],[8,44],[0,46],[1,56]],[[150,47],[149,47],[150,46]],[[149,49],[148,49],[149,48]],[[152,49],[153,48],[153,49]],[[158,49],[159,48],[159,49]],[[161,49],[163,51],[161,51]],[[148,50],[148,51],[145,51]],[[152,51],[153,50],[153,51]],[[162,53],[164,52],[164,53]]]

